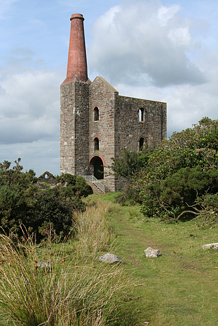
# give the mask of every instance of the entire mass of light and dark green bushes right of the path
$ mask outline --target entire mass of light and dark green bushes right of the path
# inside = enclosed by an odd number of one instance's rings
[[[200,216],[201,196],[218,191],[217,127],[218,121],[203,118],[192,128],[174,132],[151,153],[140,180],[144,215],[166,221]]]

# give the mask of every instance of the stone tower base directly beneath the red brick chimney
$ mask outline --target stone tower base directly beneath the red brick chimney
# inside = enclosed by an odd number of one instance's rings
[[[61,85],[60,174],[85,175],[89,159],[89,85]]]

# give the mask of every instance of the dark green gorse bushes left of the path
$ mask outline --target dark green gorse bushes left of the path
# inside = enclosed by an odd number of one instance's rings
[[[74,224],[73,213],[85,208],[81,200],[88,196],[85,179],[63,175],[59,186],[40,189],[34,171],[22,172],[19,162],[15,161],[12,169],[8,161],[0,164],[0,226],[8,234],[20,234],[23,224],[40,239],[38,228],[47,222],[53,224],[57,235],[66,235]]]

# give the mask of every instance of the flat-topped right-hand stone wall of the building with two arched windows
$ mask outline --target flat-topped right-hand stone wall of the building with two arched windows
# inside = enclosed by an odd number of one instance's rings
[[[143,120],[139,121],[139,111]],[[123,148],[139,151],[139,140],[144,143],[160,143],[166,139],[166,103],[115,94],[115,158],[120,157]],[[124,186],[124,180],[115,180],[115,189]]]

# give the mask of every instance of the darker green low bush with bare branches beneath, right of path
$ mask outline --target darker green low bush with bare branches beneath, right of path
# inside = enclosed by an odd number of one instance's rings
[[[146,216],[156,215],[162,219],[176,220],[183,211],[187,211],[187,215],[197,214],[202,196],[217,192],[216,169],[202,171],[200,166],[182,168],[160,183],[144,186],[141,211]]]

